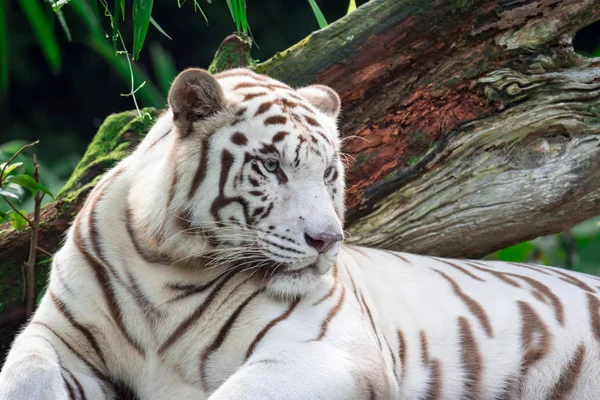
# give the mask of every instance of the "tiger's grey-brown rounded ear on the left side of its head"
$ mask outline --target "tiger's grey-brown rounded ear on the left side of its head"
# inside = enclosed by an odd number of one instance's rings
[[[186,69],[177,75],[169,90],[173,122],[181,136],[189,135],[194,122],[216,114],[224,105],[221,85],[203,69]]]

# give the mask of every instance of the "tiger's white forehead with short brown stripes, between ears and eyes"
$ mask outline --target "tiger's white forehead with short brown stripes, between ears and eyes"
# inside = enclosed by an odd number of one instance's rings
[[[334,160],[339,150],[335,121],[293,88],[248,70],[231,70],[215,78],[237,105],[228,127],[233,144],[255,147],[265,155],[277,153],[294,167],[306,158],[325,164]]]

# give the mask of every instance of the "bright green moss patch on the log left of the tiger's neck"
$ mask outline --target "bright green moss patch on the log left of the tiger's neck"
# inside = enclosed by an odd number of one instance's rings
[[[57,197],[63,198],[87,185],[89,181],[82,178],[91,169],[107,170],[125,158],[132,144],[137,144],[148,133],[158,116],[154,108],[145,108],[141,110],[141,114],[140,117],[134,111],[126,111],[106,118]]]

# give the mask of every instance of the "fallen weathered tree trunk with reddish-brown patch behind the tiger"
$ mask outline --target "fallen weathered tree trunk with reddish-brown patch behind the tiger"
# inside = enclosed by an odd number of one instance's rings
[[[253,68],[340,93],[348,242],[480,257],[600,214],[600,61],[571,44],[598,19],[600,0],[373,0]],[[228,38],[212,68],[247,47]],[[150,126],[105,121],[42,210],[41,247]],[[28,238],[0,230],[0,335],[22,321]]]

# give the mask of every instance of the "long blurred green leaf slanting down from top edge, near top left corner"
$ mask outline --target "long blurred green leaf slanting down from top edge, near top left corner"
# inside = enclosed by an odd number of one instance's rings
[[[60,49],[52,31],[52,24],[44,13],[40,0],[20,0],[23,14],[33,28],[44,57],[54,73],[60,71]]]

